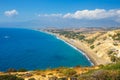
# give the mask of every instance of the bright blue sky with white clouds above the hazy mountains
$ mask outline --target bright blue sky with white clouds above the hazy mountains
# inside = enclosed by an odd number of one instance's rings
[[[49,18],[120,23],[120,0],[0,0],[0,23]]]

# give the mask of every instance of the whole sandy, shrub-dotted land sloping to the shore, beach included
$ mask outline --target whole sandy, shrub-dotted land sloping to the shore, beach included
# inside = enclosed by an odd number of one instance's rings
[[[91,29],[90,29],[91,30]],[[120,60],[120,29],[77,29],[77,30],[52,30],[57,37],[74,45],[85,52],[97,64],[108,64]],[[84,47],[84,48],[83,48]],[[95,58],[96,57],[96,58]],[[103,59],[103,60],[101,60]]]

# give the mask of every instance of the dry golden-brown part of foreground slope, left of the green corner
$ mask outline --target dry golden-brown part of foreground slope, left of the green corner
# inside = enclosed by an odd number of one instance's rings
[[[70,78],[77,79],[78,75],[86,73],[90,70],[97,70],[98,66],[94,67],[80,67],[74,68],[59,67],[46,70],[34,70],[34,71],[17,71],[15,69],[9,69],[7,72],[0,73],[0,80],[67,80]],[[18,77],[15,78],[15,77]],[[7,79],[9,78],[9,79]]]

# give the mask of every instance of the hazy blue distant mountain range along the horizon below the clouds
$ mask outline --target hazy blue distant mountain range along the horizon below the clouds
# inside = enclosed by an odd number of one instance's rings
[[[56,28],[69,28],[69,27],[119,27],[120,23],[110,19],[100,20],[79,20],[79,19],[65,19],[60,17],[40,17],[39,19],[25,21],[25,22],[5,22],[0,23],[0,27],[56,27]]]

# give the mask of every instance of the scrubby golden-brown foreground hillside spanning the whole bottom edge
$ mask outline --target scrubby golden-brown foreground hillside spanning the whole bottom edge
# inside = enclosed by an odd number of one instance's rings
[[[120,80],[120,62],[94,67],[2,72],[0,80]]]

